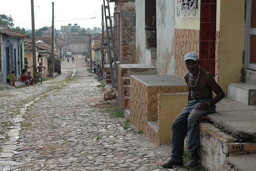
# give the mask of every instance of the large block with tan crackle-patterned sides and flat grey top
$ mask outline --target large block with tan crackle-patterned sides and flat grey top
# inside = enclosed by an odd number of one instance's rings
[[[132,75],[130,84],[131,123],[148,136],[148,121],[158,120],[158,94],[188,92],[185,80],[176,75]]]

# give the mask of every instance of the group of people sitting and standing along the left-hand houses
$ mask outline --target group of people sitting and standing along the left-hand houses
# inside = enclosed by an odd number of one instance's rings
[[[34,78],[31,75],[31,72],[27,71],[28,68],[31,68],[32,66],[28,66],[28,62],[26,62],[26,64],[24,65],[25,69],[22,70],[22,74],[20,75],[20,80],[21,82],[26,83],[26,86],[31,86],[34,83]],[[42,84],[42,77],[43,77],[43,70],[45,70],[46,68],[44,66],[42,66],[42,63],[39,63],[39,66],[37,66],[36,71],[38,69],[38,72],[35,74],[35,76],[39,76],[41,79],[41,84]],[[14,87],[15,86],[15,81],[17,80],[16,77],[14,76],[15,71],[12,70],[11,73],[9,73],[6,77],[6,82],[9,83],[9,85],[12,85]]]

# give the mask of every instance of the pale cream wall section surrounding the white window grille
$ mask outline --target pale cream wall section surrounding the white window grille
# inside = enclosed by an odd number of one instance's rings
[[[201,0],[198,0],[198,10],[196,11],[196,17],[177,17],[177,3],[175,1],[175,29],[190,29],[200,30],[200,4]]]

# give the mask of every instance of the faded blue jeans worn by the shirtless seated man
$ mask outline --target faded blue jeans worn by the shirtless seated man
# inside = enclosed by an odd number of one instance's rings
[[[188,134],[188,150],[191,154],[200,145],[198,119],[215,112],[215,105],[205,110],[195,110],[198,103],[205,103],[211,99],[192,100],[182,109],[171,126],[171,160],[175,162],[183,161],[184,139]]]

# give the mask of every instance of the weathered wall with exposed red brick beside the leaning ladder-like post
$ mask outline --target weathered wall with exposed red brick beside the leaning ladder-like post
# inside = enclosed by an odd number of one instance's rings
[[[120,0],[121,64],[136,63],[135,0]]]

